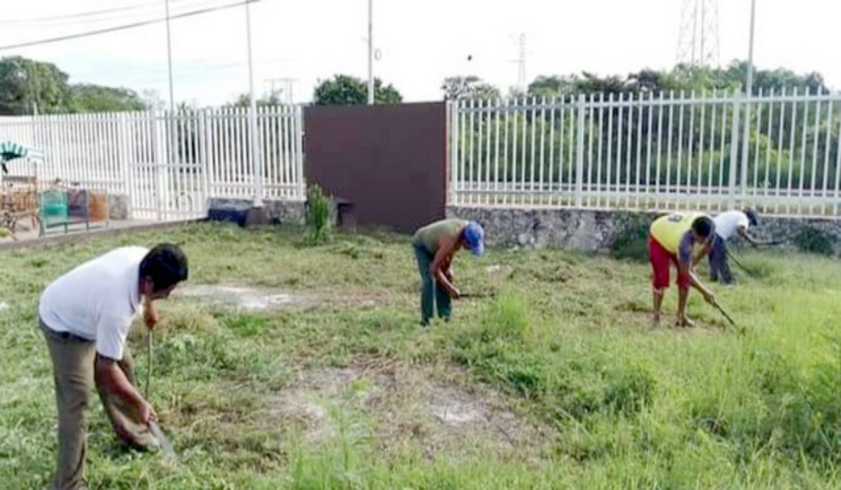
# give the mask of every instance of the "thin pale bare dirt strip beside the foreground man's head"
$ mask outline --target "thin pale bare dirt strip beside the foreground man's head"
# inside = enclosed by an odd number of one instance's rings
[[[367,291],[300,292],[234,284],[197,284],[177,289],[173,298],[191,298],[223,308],[244,311],[342,306],[372,308],[385,302],[383,294]]]

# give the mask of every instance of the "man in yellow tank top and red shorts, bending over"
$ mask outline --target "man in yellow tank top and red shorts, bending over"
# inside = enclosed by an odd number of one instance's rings
[[[669,213],[655,219],[648,231],[648,259],[653,269],[654,324],[660,321],[663,295],[669,287],[669,262],[678,270],[679,326],[693,326],[686,316],[689,287],[695,287],[707,303],[715,303],[716,296],[696,276],[693,268],[710,253],[715,238],[715,224],[706,213]],[[692,250],[701,246],[701,253],[693,260]]]

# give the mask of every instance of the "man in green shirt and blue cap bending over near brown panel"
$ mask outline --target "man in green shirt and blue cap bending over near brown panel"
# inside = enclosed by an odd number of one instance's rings
[[[433,298],[438,316],[450,319],[452,299],[459,297],[452,285],[452,257],[462,248],[482,255],[484,229],[473,221],[442,219],[418,229],[412,246],[421,272],[421,324],[428,325],[432,318]]]

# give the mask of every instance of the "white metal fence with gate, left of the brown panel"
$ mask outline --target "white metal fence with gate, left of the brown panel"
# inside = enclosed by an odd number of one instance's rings
[[[301,108],[258,108],[257,159],[246,108],[0,118],[0,140],[45,152],[40,182],[127,195],[131,219],[203,217],[209,198],[304,200]],[[8,164],[10,173],[24,173]]]

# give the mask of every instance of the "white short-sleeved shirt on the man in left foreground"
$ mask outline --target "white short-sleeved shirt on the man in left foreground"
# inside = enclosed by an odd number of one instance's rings
[[[56,332],[96,342],[97,352],[122,360],[131,323],[142,313],[143,247],[121,247],[67,272],[46,287],[38,313]]]

